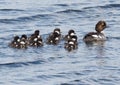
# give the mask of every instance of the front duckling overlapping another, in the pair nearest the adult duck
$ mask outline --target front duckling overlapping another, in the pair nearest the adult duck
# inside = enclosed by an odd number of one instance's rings
[[[64,48],[68,51],[72,51],[78,48],[77,36],[73,35],[69,40],[65,42]]]

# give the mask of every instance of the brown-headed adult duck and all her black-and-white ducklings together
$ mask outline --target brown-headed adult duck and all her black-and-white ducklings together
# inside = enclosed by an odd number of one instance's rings
[[[105,35],[101,33],[101,31],[103,31],[105,28],[106,22],[99,21],[95,26],[96,32],[89,32],[84,36],[83,40],[85,42],[106,40]],[[61,30],[59,28],[55,28],[54,31],[47,37],[46,44],[57,45],[62,39],[65,41],[64,48],[66,50],[72,51],[78,48],[77,35],[72,29],[68,31],[67,35],[62,36]],[[15,36],[14,39],[10,42],[9,46],[21,49],[27,48],[28,46],[41,47],[43,44],[44,42],[40,35],[40,31],[35,30],[35,32],[31,34],[30,37],[27,37],[25,34],[23,34],[21,37]]]

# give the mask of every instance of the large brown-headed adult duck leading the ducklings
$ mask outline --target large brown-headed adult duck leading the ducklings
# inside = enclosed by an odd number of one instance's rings
[[[105,28],[106,28],[106,22],[103,21],[103,20],[98,21],[96,26],[95,26],[96,32],[89,32],[88,34],[86,34],[84,36],[83,40],[85,42],[89,42],[89,41],[105,41],[106,37],[102,33],[102,31]]]

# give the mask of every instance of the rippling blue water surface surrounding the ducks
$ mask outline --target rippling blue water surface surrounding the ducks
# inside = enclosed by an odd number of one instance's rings
[[[119,0],[0,0],[0,85],[119,85]],[[108,40],[86,45],[83,36],[105,20]],[[77,50],[57,46],[13,49],[14,35],[39,29],[46,37],[54,28],[74,29]],[[44,38],[45,40],[45,38]]]

